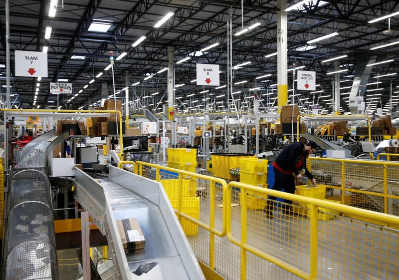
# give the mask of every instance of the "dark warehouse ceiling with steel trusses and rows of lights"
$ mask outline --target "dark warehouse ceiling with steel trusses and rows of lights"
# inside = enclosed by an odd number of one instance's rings
[[[298,2],[288,0],[287,6]],[[335,61],[322,61],[347,55],[338,60],[342,69],[348,69],[340,74],[342,112],[349,111],[349,95],[345,93],[351,91],[353,75],[361,59],[389,61],[370,66],[373,68],[367,90],[379,90],[366,91],[367,112],[375,113],[375,108],[380,105],[385,112],[396,111],[396,100],[391,95],[399,96],[399,15],[374,23],[369,21],[399,11],[398,3],[397,0],[312,0],[306,1],[300,10],[288,11],[287,68],[295,63],[296,67],[305,66],[302,70],[316,71],[316,83],[320,84],[316,93],[295,91],[294,102],[306,110],[311,109],[310,105],[318,104],[323,112],[331,112],[334,75],[326,73],[335,70]],[[58,0],[54,17],[49,17],[49,6],[50,0],[9,0],[10,92],[15,107],[32,108],[34,104],[35,108],[38,105],[55,108],[59,102],[62,109],[89,108],[100,100],[104,89],[107,95],[113,93],[112,68],[104,70],[110,63],[109,51],[113,51],[115,58],[127,53],[115,61],[114,80],[116,92],[125,88],[127,82],[130,85],[131,113],[142,112],[143,106],[160,112],[162,105],[167,104],[168,71],[157,72],[168,67],[168,47],[172,47],[174,84],[184,84],[175,90],[176,109],[201,112],[204,102],[209,102],[211,111],[227,110],[226,88],[197,86],[193,80],[196,79],[196,63],[209,63],[219,64],[220,85],[227,83],[227,22],[230,17],[233,34],[240,31],[242,25],[248,27],[260,23],[248,32],[232,36],[232,66],[250,61],[232,71],[233,83],[247,81],[233,85],[232,92],[240,91],[233,95],[237,109],[246,111],[252,107],[253,99],[244,97],[252,96],[254,91],[249,89],[254,87],[259,87],[257,93],[262,110],[276,107],[277,56],[265,56],[277,51],[277,1]],[[173,12],[173,16],[160,27],[154,27],[168,12]],[[5,1],[1,1],[0,13],[0,64],[5,64]],[[100,23],[100,27],[108,25],[109,29],[89,31],[93,21]],[[47,26],[52,27],[49,39],[44,38]],[[313,44],[307,43],[334,32],[338,34]],[[132,46],[141,36],[146,38]],[[200,56],[195,55],[214,43],[218,45]],[[372,49],[385,44],[391,45]],[[14,50],[42,51],[46,46],[48,77],[41,81],[15,77]],[[188,60],[176,63],[186,57]],[[4,101],[4,65],[0,65],[0,71]],[[104,74],[96,77],[100,72]],[[266,74],[271,75],[255,79]],[[153,76],[145,79],[150,75]],[[49,93],[49,82],[58,79],[71,82],[73,93],[61,94],[57,101],[57,95]],[[89,84],[92,79],[94,81]],[[292,84],[293,75],[289,71],[289,90]],[[200,93],[205,90],[209,92]],[[153,95],[156,92],[159,93]],[[292,90],[288,94],[292,94]],[[122,91],[117,97],[124,95]],[[206,98],[209,99],[204,100]],[[231,96],[229,98],[231,102]]]

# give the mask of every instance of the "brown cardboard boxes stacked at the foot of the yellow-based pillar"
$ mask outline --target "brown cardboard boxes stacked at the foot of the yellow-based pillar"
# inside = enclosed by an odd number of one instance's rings
[[[280,114],[280,123],[274,124],[274,133],[275,134],[291,134],[292,129],[294,129],[294,133],[297,132],[297,121],[299,116],[299,107],[298,105],[292,106],[282,106],[281,114]],[[306,132],[306,125],[301,123],[299,126],[299,133]]]

